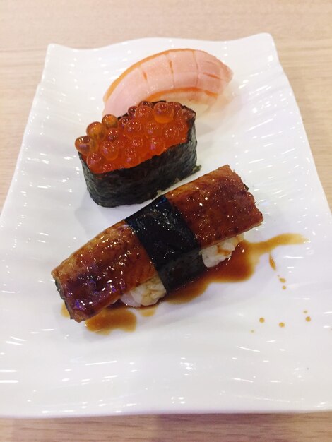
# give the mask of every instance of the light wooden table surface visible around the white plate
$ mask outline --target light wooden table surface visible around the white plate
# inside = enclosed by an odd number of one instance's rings
[[[92,48],[139,37],[232,40],[259,32],[275,39],[331,207],[331,23],[331,0],[1,0],[0,208],[47,44]],[[331,441],[332,412],[0,419],[0,440]]]

